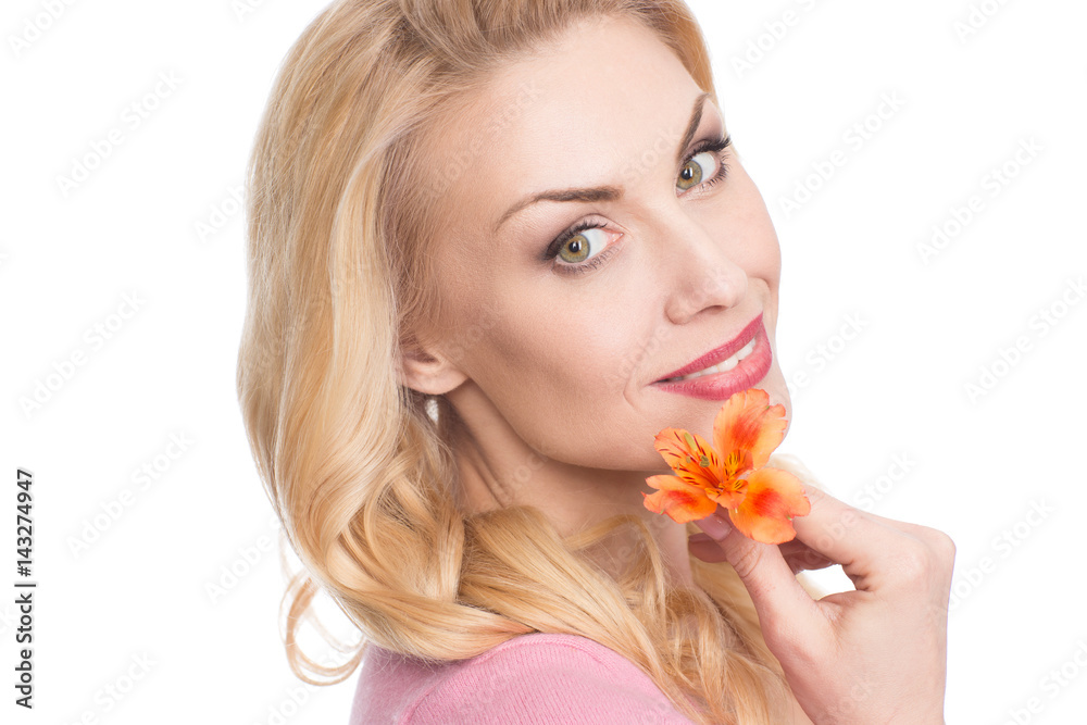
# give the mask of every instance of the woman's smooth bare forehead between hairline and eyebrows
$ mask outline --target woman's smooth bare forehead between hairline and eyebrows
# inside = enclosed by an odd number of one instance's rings
[[[445,221],[490,230],[534,191],[622,185],[648,151],[674,154],[700,92],[652,30],[579,22],[503,68],[436,134]]]

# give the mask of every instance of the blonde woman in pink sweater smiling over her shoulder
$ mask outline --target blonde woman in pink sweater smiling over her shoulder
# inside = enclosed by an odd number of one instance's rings
[[[370,642],[352,722],[942,722],[948,537],[812,486],[779,547],[642,503],[661,429],[789,407],[777,238],[680,0],[337,2],[249,214],[288,652],[361,660],[298,651],[324,588]],[[829,563],[858,590],[813,600]]]

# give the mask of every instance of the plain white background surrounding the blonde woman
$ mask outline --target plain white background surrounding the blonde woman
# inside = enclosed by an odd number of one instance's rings
[[[234,387],[232,189],[278,62],[324,3],[54,4],[0,14],[0,720],[346,722],[354,675],[313,688],[287,667],[277,532]],[[954,538],[949,723],[1082,722],[1087,5],[692,7],[782,241],[782,452],[855,505]],[[951,234],[926,257],[934,226]],[[172,436],[190,441],[173,459]],[[18,466],[35,476],[33,713],[12,704]]]

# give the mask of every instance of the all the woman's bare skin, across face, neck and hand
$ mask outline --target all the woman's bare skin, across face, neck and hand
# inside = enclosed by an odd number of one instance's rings
[[[467,505],[529,503],[564,534],[616,513],[639,516],[675,584],[692,585],[688,551],[734,565],[797,696],[796,722],[942,722],[953,559],[945,535],[812,492],[788,545],[749,541],[727,516],[703,520],[707,533],[688,542],[684,525],[641,503],[639,491],[653,490],[646,477],[670,473],[652,447],[657,433],[709,438],[722,403],[653,383],[760,313],[774,364],[752,387],[791,418],[774,342],[780,255],[762,197],[733,148],[696,157],[703,182],[717,159],[727,164],[712,186],[686,188],[680,174],[691,164],[676,161],[727,133],[720,109],[707,100],[680,148],[702,90],[648,29],[592,18],[504,66],[442,126],[435,159],[470,148],[525,87],[532,100],[488,132],[443,189],[432,250],[441,309],[415,330],[423,342],[402,370],[404,384],[445,395],[460,416],[452,443]],[[622,195],[539,202],[495,229],[526,196],[604,185]],[[597,245],[591,268],[564,273],[561,258],[541,259],[582,221],[603,227],[580,238]],[[844,564],[858,590],[813,601],[795,573],[830,563]]]

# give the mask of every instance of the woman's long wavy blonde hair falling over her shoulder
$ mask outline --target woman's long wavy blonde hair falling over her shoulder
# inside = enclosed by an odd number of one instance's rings
[[[463,511],[451,405],[398,385],[402,351],[439,304],[426,248],[458,174],[426,158],[427,134],[503,64],[600,15],[655,32],[714,92],[682,0],[341,0],[279,70],[248,170],[237,386],[304,564],[284,596],[288,661],[333,684],[371,641],[450,661],[522,634],[573,634],[634,662],[695,722],[780,722],[789,691],[730,566],[692,558],[697,587],[676,588],[637,517],[563,538],[534,508]],[[630,563],[608,574],[599,547],[621,529]],[[318,665],[296,638],[322,590],[364,636],[341,666]]]

